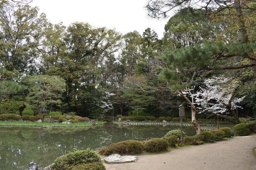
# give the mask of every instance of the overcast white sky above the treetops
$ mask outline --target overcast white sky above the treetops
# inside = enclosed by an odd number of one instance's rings
[[[126,34],[147,28],[163,37],[165,20],[151,19],[144,9],[148,0],[33,0],[29,5],[39,7],[52,24],[88,22],[94,27],[106,27]]]

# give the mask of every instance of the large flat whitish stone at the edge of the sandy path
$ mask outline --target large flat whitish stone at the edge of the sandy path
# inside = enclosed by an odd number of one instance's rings
[[[104,161],[107,163],[135,162],[136,160],[137,156],[121,156],[119,154],[112,154],[104,158]]]

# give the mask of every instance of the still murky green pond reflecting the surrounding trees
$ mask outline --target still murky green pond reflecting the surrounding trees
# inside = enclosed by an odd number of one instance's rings
[[[124,140],[161,138],[173,125],[123,125],[106,123],[87,128],[0,127],[0,170],[26,169],[32,160],[46,167],[69,151],[105,147]],[[183,127],[188,136],[194,127]]]

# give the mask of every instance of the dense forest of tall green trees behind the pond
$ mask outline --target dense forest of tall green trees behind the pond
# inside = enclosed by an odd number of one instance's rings
[[[146,27],[53,25],[37,7],[2,0],[0,114],[177,117],[184,104],[187,118],[190,107],[201,118],[256,118],[255,2],[244,3],[180,9],[159,39]]]

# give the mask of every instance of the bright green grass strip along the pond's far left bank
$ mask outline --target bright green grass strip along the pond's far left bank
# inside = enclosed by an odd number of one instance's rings
[[[96,121],[97,124],[103,124],[103,121]],[[71,124],[62,124],[62,123],[46,123],[46,122],[19,122],[19,121],[0,121],[0,126],[52,126],[52,127],[85,127],[91,126],[91,123],[71,123]]]

